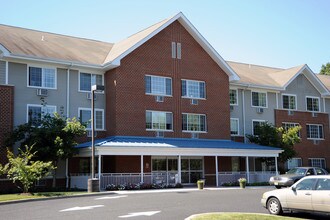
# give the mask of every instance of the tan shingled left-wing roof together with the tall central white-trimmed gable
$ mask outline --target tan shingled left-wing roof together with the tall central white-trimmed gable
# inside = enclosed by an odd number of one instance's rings
[[[0,25],[0,51],[3,51],[2,56],[12,58],[62,62],[66,65],[108,70],[118,67],[122,58],[175,21],[180,22],[192,35],[229,76],[229,80],[239,79],[232,68],[181,12],[115,44]]]

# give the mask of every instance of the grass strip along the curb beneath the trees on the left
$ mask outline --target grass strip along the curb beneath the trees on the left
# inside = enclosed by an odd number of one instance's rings
[[[0,203],[12,200],[24,200],[24,199],[38,199],[38,198],[47,198],[47,197],[60,197],[60,196],[72,196],[87,193],[85,191],[77,192],[40,192],[33,194],[4,194],[0,195]]]

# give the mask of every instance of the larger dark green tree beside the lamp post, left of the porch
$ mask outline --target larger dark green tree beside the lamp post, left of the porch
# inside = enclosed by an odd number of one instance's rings
[[[6,140],[7,146],[19,142],[20,146],[34,145],[36,159],[52,161],[54,167],[59,160],[71,158],[77,153],[76,137],[85,134],[85,126],[76,118],[65,119],[58,113],[46,114],[38,121],[29,121],[19,125]],[[56,186],[56,169],[53,175],[53,187]]]

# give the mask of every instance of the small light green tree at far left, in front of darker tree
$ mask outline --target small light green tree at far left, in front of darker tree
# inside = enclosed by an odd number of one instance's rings
[[[23,186],[23,193],[28,193],[32,184],[43,177],[48,176],[55,169],[52,162],[35,161],[33,157],[37,151],[32,152],[33,146],[25,146],[25,150],[19,149],[17,157],[8,150],[8,163],[0,166],[0,173],[7,174],[7,177],[14,183],[20,182]]]

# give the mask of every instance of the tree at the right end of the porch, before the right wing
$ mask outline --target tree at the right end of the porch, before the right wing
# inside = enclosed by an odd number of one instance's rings
[[[286,162],[297,155],[294,145],[300,142],[300,129],[300,126],[288,129],[283,127],[276,128],[269,123],[264,123],[256,127],[258,135],[247,135],[247,138],[252,143],[282,148],[284,151],[279,155],[279,160]]]

